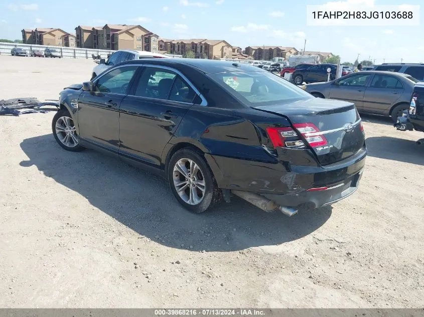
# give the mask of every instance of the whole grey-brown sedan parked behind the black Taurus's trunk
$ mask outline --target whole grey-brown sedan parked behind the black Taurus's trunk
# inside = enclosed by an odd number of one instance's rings
[[[393,72],[362,71],[328,83],[305,85],[315,97],[353,102],[360,113],[391,116],[393,122],[409,108],[416,79]]]

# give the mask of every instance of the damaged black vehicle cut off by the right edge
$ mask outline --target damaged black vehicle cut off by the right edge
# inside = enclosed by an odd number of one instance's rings
[[[397,118],[394,127],[401,131],[424,132],[424,83],[417,83],[414,86],[410,106],[401,117]],[[424,144],[424,138],[416,141],[418,145]]]

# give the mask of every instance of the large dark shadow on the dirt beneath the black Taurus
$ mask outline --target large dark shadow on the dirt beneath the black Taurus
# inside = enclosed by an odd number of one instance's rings
[[[281,244],[314,232],[332,213],[332,207],[324,207],[287,217],[233,197],[230,204],[193,214],[177,202],[164,179],[119,159],[93,150],[67,152],[51,134],[28,138],[21,148],[29,158],[22,167],[35,165],[138,234],[169,247],[231,251]]]

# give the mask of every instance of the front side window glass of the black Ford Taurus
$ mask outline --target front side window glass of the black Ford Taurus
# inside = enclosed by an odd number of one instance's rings
[[[95,90],[100,93],[126,94],[136,69],[136,66],[129,66],[110,71],[98,79]]]

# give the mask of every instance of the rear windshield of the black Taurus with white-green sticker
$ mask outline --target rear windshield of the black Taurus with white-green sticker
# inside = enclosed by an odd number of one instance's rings
[[[215,82],[247,104],[310,99],[303,89],[269,72],[230,72],[210,74]]]

